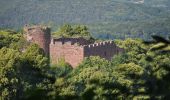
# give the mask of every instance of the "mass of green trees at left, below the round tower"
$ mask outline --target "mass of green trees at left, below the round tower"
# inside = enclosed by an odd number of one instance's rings
[[[1,43],[7,44],[0,49],[0,99],[29,99],[40,94],[45,98],[51,79],[42,50],[35,44],[23,45],[25,40],[18,33],[4,31],[2,35]]]

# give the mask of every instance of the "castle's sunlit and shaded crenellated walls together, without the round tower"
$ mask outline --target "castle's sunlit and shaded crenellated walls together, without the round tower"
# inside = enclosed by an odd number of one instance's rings
[[[52,64],[64,58],[67,63],[75,68],[85,57],[100,56],[107,60],[123,52],[123,49],[117,47],[113,41],[94,43],[90,45],[80,46],[72,44],[72,42],[52,41],[50,44],[50,58]]]

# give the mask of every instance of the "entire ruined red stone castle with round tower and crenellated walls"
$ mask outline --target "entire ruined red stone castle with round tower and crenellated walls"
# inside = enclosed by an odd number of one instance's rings
[[[100,56],[107,60],[123,52],[114,41],[94,43],[84,38],[52,38],[50,29],[41,26],[26,26],[24,28],[27,41],[37,43],[49,55],[51,63],[56,64],[60,59],[75,68],[85,57]]]

